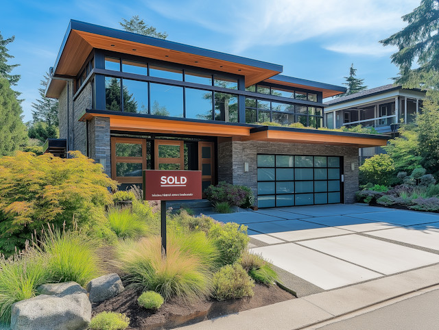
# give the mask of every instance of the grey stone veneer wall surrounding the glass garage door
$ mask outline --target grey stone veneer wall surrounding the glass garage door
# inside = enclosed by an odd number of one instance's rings
[[[233,141],[218,144],[218,181],[252,188],[257,196],[257,154],[322,155],[344,157],[344,203],[355,203],[358,190],[358,148],[326,144],[298,144],[265,141]],[[248,162],[248,172],[244,172]],[[351,169],[351,163],[355,170]]]

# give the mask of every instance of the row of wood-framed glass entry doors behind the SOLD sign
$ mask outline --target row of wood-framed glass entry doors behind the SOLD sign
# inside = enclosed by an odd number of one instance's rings
[[[150,150],[148,150],[150,149]],[[141,184],[142,170],[201,170],[202,190],[215,184],[215,144],[207,141],[111,138],[111,177]]]

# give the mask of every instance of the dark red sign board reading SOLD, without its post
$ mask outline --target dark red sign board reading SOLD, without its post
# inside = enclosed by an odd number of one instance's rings
[[[143,170],[145,201],[201,199],[200,170]]]

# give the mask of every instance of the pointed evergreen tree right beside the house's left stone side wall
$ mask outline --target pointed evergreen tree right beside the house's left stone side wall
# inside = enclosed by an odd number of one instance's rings
[[[36,103],[32,103],[32,118],[35,123],[46,123],[48,126],[58,127],[58,100],[49,99],[45,97],[46,86],[49,83],[48,73],[44,75],[44,80],[41,80],[40,85],[43,88],[38,88],[40,99]]]

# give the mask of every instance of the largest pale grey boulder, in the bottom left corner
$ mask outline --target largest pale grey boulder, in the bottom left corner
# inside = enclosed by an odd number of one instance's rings
[[[12,330],[83,330],[91,320],[91,303],[84,293],[41,294],[12,305]]]

